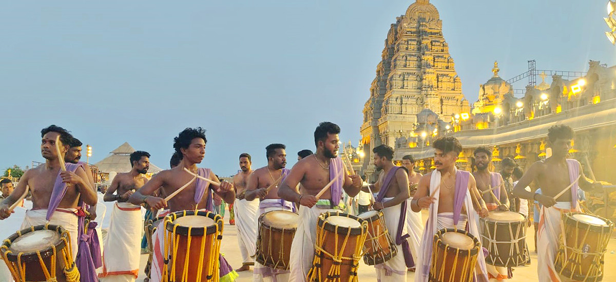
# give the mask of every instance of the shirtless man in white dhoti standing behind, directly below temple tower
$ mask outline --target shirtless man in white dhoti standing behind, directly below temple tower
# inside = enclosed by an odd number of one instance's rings
[[[408,171],[408,189],[411,198],[417,191],[417,183],[423,175],[419,172],[415,172],[415,158],[411,155],[402,157],[402,166]],[[421,212],[415,212],[411,209],[411,201],[407,201],[407,232],[408,232],[408,245],[411,249],[411,255],[415,263],[418,259],[419,246],[421,245],[421,237],[423,236],[424,224],[426,222],[421,217]],[[408,271],[414,272],[415,265],[408,268]]]

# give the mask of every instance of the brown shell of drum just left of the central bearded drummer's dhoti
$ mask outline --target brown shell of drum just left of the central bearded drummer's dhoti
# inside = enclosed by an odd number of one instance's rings
[[[289,269],[291,243],[297,228],[278,228],[263,222],[259,216],[259,238],[255,259],[259,264],[280,270]],[[282,257],[280,254],[282,253]]]

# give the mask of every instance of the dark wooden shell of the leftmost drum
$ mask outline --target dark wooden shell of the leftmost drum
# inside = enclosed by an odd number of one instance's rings
[[[44,230],[45,225],[36,225],[34,227],[34,230]],[[47,225],[47,229],[49,230],[57,230],[60,234],[64,234],[66,233],[66,231],[64,230],[64,228],[60,227],[59,225]],[[22,235],[25,235],[27,233],[31,232],[31,228],[25,228],[20,230],[20,233],[22,233]],[[15,241],[17,238],[19,238],[20,236],[17,233],[14,233],[13,235],[9,236],[9,238],[7,238],[7,240],[9,240],[11,243],[13,241]],[[60,238],[62,238],[62,235],[60,236]],[[68,239],[68,238],[67,238]],[[6,243],[5,243],[6,244]],[[58,243],[55,244],[55,252],[56,252],[56,256],[55,256],[55,275],[56,275],[56,279],[59,282],[65,282],[67,281],[67,277],[64,275],[64,269],[67,267],[64,264],[64,260],[62,259],[62,256],[60,256],[60,252],[62,251],[62,249],[67,248],[66,244],[64,243],[63,240],[59,240]],[[45,267],[51,272],[51,256],[52,254],[54,254],[54,251],[51,247],[48,247],[44,250],[41,250],[41,257],[43,257],[43,262],[45,264]],[[69,256],[71,256],[71,254],[69,254]],[[7,254],[7,259],[10,262],[17,262],[18,257],[17,254],[15,253],[9,253]],[[24,253],[22,254],[22,263],[25,264],[25,269],[26,269],[26,281],[46,281],[47,278],[45,277],[45,274],[43,272],[43,268],[41,268],[41,264],[39,262],[39,258],[38,255],[36,254],[36,252],[28,252],[28,253]],[[10,267],[9,265],[7,265],[8,267]]]

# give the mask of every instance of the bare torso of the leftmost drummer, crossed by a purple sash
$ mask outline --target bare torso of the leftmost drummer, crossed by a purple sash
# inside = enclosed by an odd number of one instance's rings
[[[78,167],[78,169],[82,168]],[[30,170],[27,184],[32,193],[33,209],[46,209],[49,207],[51,192],[54,190],[55,179],[59,171],[60,167],[50,170],[45,165],[34,167]],[[75,185],[69,185],[58,207],[64,209],[76,208],[78,203],[79,191]]]

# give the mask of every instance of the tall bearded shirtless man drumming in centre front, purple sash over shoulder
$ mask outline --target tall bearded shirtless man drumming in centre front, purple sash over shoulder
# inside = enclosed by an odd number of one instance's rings
[[[280,198],[301,204],[298,229],[291,244],[291,282],[306,281],[306,275],[312,267],[318,216],[322,212],[339,210],[342,188],[349,196],[355,196],[362,187],[361,177],[347,175],[342,159],[338,157],[339,133],[340,127],[336,124],[320,123],[314,132],[317,152],[296,163],[278,187]],[[341,170],[342,173],[338,174]],[[317,199],[315,195],[336,175],[340,175],[338,180]],[[296,190],[298,183],[302,184],[301,194]]]

